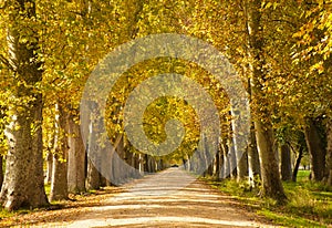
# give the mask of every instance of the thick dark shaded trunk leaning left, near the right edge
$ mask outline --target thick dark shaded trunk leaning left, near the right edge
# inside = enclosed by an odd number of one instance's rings
[[[308,125],[304,129],[307,147],[311,156],[311,178],[321,182],[324,177],[326,151],[320,136],[318,121],[308,118]]]

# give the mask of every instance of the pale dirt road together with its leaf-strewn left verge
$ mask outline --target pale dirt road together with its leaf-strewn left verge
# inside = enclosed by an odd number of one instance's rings
[[[73,196],[72,196],[73,197]],[[0,220],[17,227],[274,227],[179,168]]]

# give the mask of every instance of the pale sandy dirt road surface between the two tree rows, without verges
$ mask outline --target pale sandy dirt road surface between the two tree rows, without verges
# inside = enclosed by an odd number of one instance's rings
[[[83,217],[52,227],[272,227],[179,168],[146,176],[125,189]]]

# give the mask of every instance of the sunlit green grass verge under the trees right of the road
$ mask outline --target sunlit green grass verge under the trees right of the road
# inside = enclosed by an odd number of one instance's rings
[[[249,190],[248,184],[235,180],[206,179],[212,187],[274,222],[287,227],[328,227],[332,224],[332,191],[329,187],[308,179],[309,172],[300,170],[298,183],[283,183],[288,196],[286,205],[259,196],[259,189]]]

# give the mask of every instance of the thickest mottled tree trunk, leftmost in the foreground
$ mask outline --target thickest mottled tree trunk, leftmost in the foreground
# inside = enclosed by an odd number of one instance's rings
[[[8,24],[9,63],[15,71],[17,85],[11,96],[19,102],[9,107],[12,116],[7,127],[9,151],[0,199],[6,209],[13,210],[44,206],[48,198],[43,178],[42,94],[35,90],[42,81],[42,62],[37,55],[39,32],[29,28],[31,38],[27,42],[20,34],[22,23],[35,20],[35,6],[31,0],[8,3],[12,7]]]

